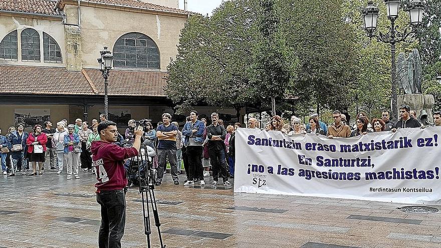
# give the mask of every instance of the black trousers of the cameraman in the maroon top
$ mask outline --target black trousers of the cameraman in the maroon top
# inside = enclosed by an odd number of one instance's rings
[[[126,224],[126,198],[122,189],[97,193],[101,205],[99,248],[121,248],[121,238]]]

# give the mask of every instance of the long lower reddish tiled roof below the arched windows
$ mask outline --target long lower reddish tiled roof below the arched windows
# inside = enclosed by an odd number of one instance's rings
[[[98,69],[70,72],[62,67],[0,65],[0,93],[26,95],[104,95]],[[167,73],[110,71],[108,95],[166,97]]]

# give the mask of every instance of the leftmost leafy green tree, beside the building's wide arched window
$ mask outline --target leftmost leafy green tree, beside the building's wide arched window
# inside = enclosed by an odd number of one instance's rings
[[[210,18],[188,19],[168,66],[167,93],[179,111],[205,103],[235,108],[239,118],[242,107],[259,103],[249,76],[256,13],[248,2],[225,2]]]

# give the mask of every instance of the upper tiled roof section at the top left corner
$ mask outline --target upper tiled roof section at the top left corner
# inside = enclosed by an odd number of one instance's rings
[[[0,11],[62,16],[55,10],[55,4],[51,0],[0,0]]]

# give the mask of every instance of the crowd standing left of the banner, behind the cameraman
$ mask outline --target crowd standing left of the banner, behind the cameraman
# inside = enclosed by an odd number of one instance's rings
[[[106,120],[107,116],[101,114],[100,121]],[[46,121],[43,125],[35,125],[30,133],[24,130],[23,124],[11,126],[5,136],[0,130],[3,174],[15,176],[21,172],[26,175],[30,163],[30,176],[42,175],[45,168],[56,170],[58,175],[67,173],[67,179],[80,178],[80,168],[84,173],[95,174],[90,147],[94,141],[100,140],[98,124],[97,119],[93,119],[90,126],[81,119],[76,119],[75,124],[68,124],[63,119],[56,123],[56,128],[51,121]],[[128,126],[124,136],[117,134],[115,144],[121,147],[133,145],[135,120],[130,120]],[[205,185],[204,178],[212,171],[211,186],[218,184],[219,177],[225,186],[232,186],[229,178],[234,176],[234,132],[241,127],[240,123],[225,128],[218,114],[212,113],[211,125],[207,125],[207,120],[199,120],[197,111],[193,110],[181,130],[168,113],[162,115],[156,128],[151,122],[145,126],[144,145],[156,150],[152,166],[156,172],[156,185],[161,185],[168,161],[175,185],[179,184],[179,174],[186,174],[185,186]],[[130,161],[125,162],[126,170],[130,168]]]

